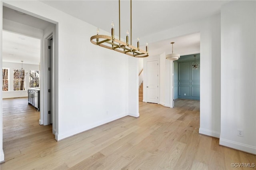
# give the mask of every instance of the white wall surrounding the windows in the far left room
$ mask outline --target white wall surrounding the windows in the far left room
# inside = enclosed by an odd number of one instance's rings
[[[21,63],[10,63],[10,62],[3,62],[3,68],[9,68],[9,91],[3,91],[3,99],[6,98],[14,98],[14,97],[28,97],[28,88],[29,88],[29,71],[30,70],[39,70],[39,65],[33,64],[24,64],[23,69],[28,71],[28,75],[25,76],[25,91],[14,91],[13,90],[13,70],[14,69],[21,69]]]

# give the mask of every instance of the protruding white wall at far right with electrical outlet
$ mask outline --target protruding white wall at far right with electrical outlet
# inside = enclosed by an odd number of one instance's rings
[[[222,6],[221,44],[220,144],[256,154],[255,1]]]

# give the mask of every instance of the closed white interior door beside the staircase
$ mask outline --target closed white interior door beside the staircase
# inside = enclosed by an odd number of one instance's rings
[[[147,61],[147,102],[158,103],[158,61]]]

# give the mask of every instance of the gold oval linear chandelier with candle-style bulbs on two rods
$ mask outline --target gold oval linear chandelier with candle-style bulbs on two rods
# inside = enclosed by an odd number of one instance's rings
[[[130,44],[129,32],[127,31],[126,42],[120,40],[120,0],[119,0],[119,40],[114,38],[114,23],[112,22],[111,36],[99,35],[97,28],[97,35],[90,38],[91,43],[99,45],[104,48],[112,49],[120,53],[130,55],[132,57],[148,57],[148,43],[146,43],[146,51],[140,49],[140,39],[138,38],[137,47],[132,45],[132,0],[130,0]]]

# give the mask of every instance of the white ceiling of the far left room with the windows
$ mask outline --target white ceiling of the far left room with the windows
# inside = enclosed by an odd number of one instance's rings
[[[3,30],[3,62],[39,64],[40,39]]]

